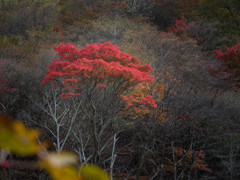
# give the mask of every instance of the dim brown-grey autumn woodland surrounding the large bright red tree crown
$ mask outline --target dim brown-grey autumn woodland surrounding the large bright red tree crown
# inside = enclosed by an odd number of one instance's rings
[[[110,91],[63,100],[40,86],[53,46],[104,42],[153,67],[158,108],[119,113]],[[239,42],[239,0],[0,0],[0,113],[116,180],[238,179]],[[13,165],[0,179],[49,177]]]

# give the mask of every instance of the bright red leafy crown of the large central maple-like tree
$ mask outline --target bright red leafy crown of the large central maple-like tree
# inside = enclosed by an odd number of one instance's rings
[[[141,65],[137,57],[120,51],[117,45],[109,42],[94,43],[83,49],[77,49],[71,44],[61,44],[54,49],[59,59],[49,65],[47,76],[41,85],[53,82],[57,86],[60,80],[65,91],[62,98],[80,95],[82,87],[86,85],[95,89],[107,88],[113,84],[117,96],[131,97],[125,94],[127,90],[153,80],[150,65]],[[145,96],[139,103],[156,107],[151,95]]]

